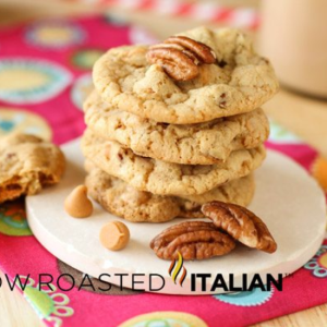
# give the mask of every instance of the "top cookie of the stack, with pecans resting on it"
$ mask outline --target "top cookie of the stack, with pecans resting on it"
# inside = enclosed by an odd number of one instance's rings
[[[252,111],[277,93],[271,65],[240,31],[199,27],[181,35],[210,47],[216,63],[202,64],[195,78],[178,82],[147,62],[148,47],[114,48],[94,66],[101,98],[157,122],[190,124]]]

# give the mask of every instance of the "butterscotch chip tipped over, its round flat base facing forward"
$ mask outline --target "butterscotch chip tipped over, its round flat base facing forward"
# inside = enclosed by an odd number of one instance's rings
[[[108,250],[122,250],[129,241],[130,230],[123,222],[110,221],[101,228],[100,242]]]

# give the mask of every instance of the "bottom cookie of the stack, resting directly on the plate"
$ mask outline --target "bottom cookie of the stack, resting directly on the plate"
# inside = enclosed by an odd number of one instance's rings
[[[87,162],[85,184],[88,195],[106,210],[133,222],[164,222],[175,217],[203,217],[201,205],[208,201],[223,201],[247,206],[254,195],[254,178],[231,181],[203,195],[161,196],[137,191],[124,181],[95,168]]]

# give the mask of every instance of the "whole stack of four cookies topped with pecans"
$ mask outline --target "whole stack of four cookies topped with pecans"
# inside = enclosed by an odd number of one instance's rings
[[[247,206],[278,90],[272,68],[235,29],[196,28],[153,47],[109,50],[84,104],[86,186],[131,221],[202,217],[201,205]]]

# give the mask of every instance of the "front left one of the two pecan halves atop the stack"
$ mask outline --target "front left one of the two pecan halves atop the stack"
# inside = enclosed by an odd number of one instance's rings
[[[147,51],[146,59],[149,63],[161,65],[177,81],[189,81],[198,75],[198,68],[192,59],[175,48],[154,47]]]

